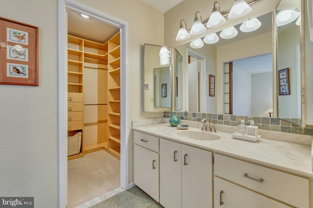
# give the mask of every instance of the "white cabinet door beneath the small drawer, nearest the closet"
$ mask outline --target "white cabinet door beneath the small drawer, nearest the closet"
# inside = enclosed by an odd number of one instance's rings
[[[134,184],[159,202],[158,153],[134,145]]]

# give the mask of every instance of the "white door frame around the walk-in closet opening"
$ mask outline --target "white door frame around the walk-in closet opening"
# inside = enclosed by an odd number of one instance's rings
[[[58,0],[58,172],[59,207],[67,206],[67,15],[72,10],[120,28],[121,146],[120,185],[129,188],[128,180],[128,22],[75,0]]]

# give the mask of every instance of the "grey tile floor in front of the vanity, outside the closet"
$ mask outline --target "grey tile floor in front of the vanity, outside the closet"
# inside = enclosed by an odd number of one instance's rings
[[[124,190],[90,208],[164,208],[139,187]]]

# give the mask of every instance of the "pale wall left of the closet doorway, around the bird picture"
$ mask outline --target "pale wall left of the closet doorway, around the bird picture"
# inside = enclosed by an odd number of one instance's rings
[[[39,27],[39,86],[0,85],[0,196],[36,208],[58,207],[57,13],[57,0],[1,0],[1,17]]]

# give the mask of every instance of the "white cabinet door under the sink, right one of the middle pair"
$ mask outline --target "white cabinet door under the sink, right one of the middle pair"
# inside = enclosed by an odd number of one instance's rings
[[[182,208],[211,208],[212,153],[181,145]]]

